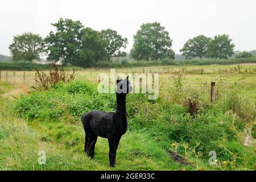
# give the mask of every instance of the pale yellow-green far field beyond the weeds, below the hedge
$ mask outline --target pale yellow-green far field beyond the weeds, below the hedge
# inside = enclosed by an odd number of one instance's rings
[[[210,85],[211,81],[222,75],[230,88],[234,88],[238,93],[256,101],[256,64],[117,68],[115,73],[143,73],[143,69],[144,73],[159,73],[160,81],[164,81],[165,84],[168,84],[169,78],[179,71],[187,75],[187,80],[195,86],[201,82],[208,82]],[[47,71],[45,72],[47,73]],[[35,85],[35,73],[35,71],[15,71],[14,76],[13,71],[7,71],[7,81],[18,88],[26,86],[27,89],[30,89]],[[70,73],[71,71],[69,71]],[[82,69],[76,71],[76,80],[97,82],[100,73],[109,75],[110,69]],[[0,81],[6,81],[6,71],[1,71]]]

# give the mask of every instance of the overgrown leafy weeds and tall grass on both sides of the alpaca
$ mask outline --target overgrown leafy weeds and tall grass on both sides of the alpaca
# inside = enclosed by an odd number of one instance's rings
[[[152,148],[153,153],[163,152],[153,155],[150,146],[144,146],[146,143],[126,140],[126,147],[138,147],[138,150],[126,151],[127,157],[132,154],[134,160],[137,157],[154,158],[163,162],[168,151],[175,151],[192,162],[193,169],[254,169],[254,142],[244,146],[244,141],[247,135],[255,136],[255,105],[238,97],[222,77],[216,80],[218,87],[214,104],[209,101],[209,89],[204,83],[200,89],[193,88],[180,73],[170,79],[172,84],[163,83],[166,89],[160,90],[158,100],[148,100],[146,94],[129,94],[127,97],[128,133],[132,138],[141,134],[152,146],[158,143]],[[47,91],[33,92],[21,97],[14,107],[30,122],[43,125],[49,122],[51,127],[44,129],[49,135],[47,140],[65,143],[66,149],[77,149],[77,152],[82,152],[83,143],[82,131],[77,125],[81,115],[93,109],[113,111],[115,95],[98,94],[97,86],[86,81],[60,83]],[[53,133],[48,131],[58,128],[56,123],[69,127],[62,126]],[[75,127],[75,133],[70,131],[71,126]],[[176,150],[172,143],[175,143]],[[216,151],[218,165],[209,166],[210,151]]]

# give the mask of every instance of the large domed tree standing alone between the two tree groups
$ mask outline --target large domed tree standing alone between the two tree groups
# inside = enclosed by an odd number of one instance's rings
[[[130,54],[137,60],[174,59],[171,46],[169,33],[160,26],[160,23],[146,23],[142,24],[141,29],[134,35]]]

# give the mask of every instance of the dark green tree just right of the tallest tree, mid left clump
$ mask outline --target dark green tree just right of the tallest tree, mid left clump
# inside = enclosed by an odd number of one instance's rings
[[[98,60],[107,57],[106,47],[109,45],[108,40],[104,38],[101,32],[92,28],[84,28],[81,30],[82,42],[81,51],[79,51],[79,61],[81,66],[92,66]]]

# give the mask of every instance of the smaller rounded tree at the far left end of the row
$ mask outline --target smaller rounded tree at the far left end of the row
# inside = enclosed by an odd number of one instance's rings
[[[14,61],[39,60],[40,53],[44,52],[43,38],[38,34],[25,32],[21,35],[14,36],[13,43],[10,44],[9,49]]]

